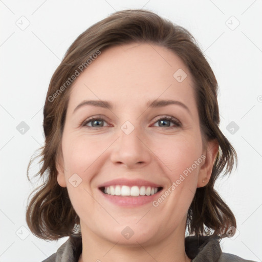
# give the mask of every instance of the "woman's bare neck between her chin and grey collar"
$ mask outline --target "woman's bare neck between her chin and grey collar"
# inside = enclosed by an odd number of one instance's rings
[[[185,252],[185,229],[177,228],[163,239],[130,245],[113,243],[99,237],[84,225],[82,231],[82,254],[78,262],[190,262]]]

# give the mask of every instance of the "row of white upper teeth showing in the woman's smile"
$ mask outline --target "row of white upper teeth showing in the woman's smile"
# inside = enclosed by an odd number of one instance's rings
[[[158,191],[157,187],[150,186],[108,186],[104,188],[104,193],[111,195],[132,195],[137,197],[138,195],[152,195]]]

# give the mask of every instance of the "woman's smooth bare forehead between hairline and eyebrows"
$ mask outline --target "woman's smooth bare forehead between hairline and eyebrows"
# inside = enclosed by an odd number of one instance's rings
[[[69,107],[84,99],[101,99],[123,108],[130,104],[145,105],[157,98],[192,104],[193,81],[189,70],[165,47],[130,43],[101,51],[93,59],[71,86]]]

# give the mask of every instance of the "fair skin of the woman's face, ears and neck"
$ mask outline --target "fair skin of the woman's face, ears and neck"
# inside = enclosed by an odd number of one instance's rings
[[[182,82],[173,77],[178,69],[187,74]],[[187,211],[197,187],[210,179],[218,148],[215,141],[203,147],[193,91],[182,60],[164,47],[146,43],[102,51],[77,77],[65,118],[57,181],[68,188],[80,217],[83,249],[79,261],[191,261],[184,246]],[[187,109],[178,103],[158,108],[146,105],[155,99],[176,100]],[[113,108],[85,105],[74,112],[83,100],[106,100]],[[98,120],[81,126],[91,116]],[[181,125],[160,121],[165,116]],[[126,121],[125,128],[134,127],[128,135],[122,127]],[[157,207],[152,201],[119,205],[99,189],[117,178],[143,179],[163,188],[150,196],[156,201],[203,155],[205,159]],[[76,187],[70,183],[74,173],[82,180]],[[121,233],[127,226],[134,232],[129,238]]]

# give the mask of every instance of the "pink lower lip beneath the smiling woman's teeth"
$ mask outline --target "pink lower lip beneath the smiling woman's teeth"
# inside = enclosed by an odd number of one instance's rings
[[[123,197],[122,195],[111,195],[111,194],[105,194],[101,190],[99,190],[103,197],[119,206],[125,206],[125,207],[138,207],[142,206],[148,203],[152,203],[156,198],[158,198],[160,191],[153,195],[139,195],[138,197],[132,197],[132,196],[126,196]]]

